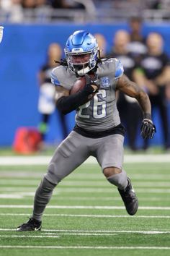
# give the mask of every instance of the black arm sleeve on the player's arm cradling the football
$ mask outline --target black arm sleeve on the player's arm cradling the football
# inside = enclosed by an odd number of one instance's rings
[[[80,90],[78,93],[59,98],[56,106],[63,114],[68,114],[89,101],[88,96],[92,93],[94,93],[94,88],[92,88],[91,85],[86,85],[86,87],[83,90]]]

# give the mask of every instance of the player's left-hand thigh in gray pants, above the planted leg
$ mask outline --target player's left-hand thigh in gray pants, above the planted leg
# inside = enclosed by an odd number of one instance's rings
[[[45,177],[49,182],[58,184],[88,157],[89,152],[84,137],[76,132],[71,132],[55,150]]]

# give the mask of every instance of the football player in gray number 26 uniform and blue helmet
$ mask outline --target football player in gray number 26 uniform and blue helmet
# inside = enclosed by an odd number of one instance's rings
[[[53,189],[90,155],[97,159],[107,181],[117,187],[128,214],[133,216],[138,210],[138,198],[122,168],[125,128],[120,122],[115,93],[120,90],[137,99],[143,110],[143,138],[152,138],[156,132],[148,95],[123,74],[118,59],[100,59],[96,38],[84,30],[68,38],[65,54],[66,60],[53,69],[51,78],[58,95],[58,109],[63,114],[76,110],[76,126],[55,150],[35,193],[32,217],[17,231],[41,229],[42,213]],[[84,76],[84,88],[70,94],[75,82]]]

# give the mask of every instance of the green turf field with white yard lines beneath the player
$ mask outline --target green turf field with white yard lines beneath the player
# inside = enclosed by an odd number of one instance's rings
[[[56,187],[37,232],[15,229],[31,216],[46,165],[0,161],[0,255],[170,255],[170,155],[157,158],[125,161],[140,204],[135,216],[97,163],[84,163]]]

